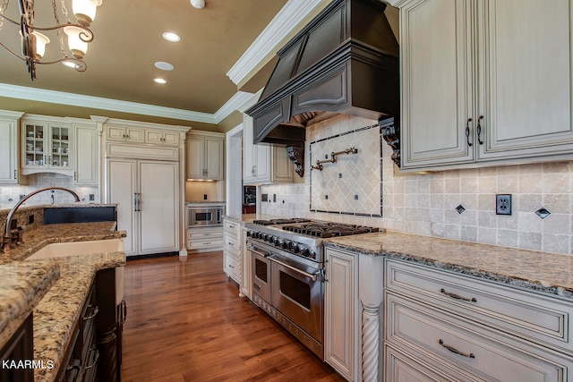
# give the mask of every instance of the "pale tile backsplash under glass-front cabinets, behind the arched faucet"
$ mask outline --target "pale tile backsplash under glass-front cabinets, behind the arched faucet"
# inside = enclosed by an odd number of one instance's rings
[[[58,186],[76,191],[82,201],[89,203],[90,194],[94,194],[94,202],[99,202],[98,187],[77,187],[73,185],[72,176],[62,174],[33,174],[28,175],[28,185],[26,186],[0,186],[0,209],[9,209],[20,199],[20,195],[26,195],[31,191],[40,188]],[[65,191],[54,191],[54,203],[73,202],[73,196]],[[52,193],[50,191],[40,192],[24,203],[24,206],[38,206],[41,204],[52,204]]]

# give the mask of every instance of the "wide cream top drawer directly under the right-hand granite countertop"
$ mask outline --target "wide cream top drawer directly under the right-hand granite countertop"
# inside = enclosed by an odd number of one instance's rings
[[[386,260],[386,288],[550,348],[573,350],[573,304],[439,269]]]

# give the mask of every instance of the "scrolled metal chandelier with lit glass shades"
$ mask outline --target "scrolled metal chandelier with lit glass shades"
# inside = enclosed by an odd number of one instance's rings
[[[101,0],[72,0],[73,15],[77,22],[70,21],[64,0],[60,0],[59,12],[65,20],[63,23],[60,22],[58,16],[56,0],[52,0],[56,25],[49,27],[39,27],[34,24],[34,0],[17,0],[20,8],[19,20],[10,18],[5,14],[10,0],[0,1],[2,1],[2,4],[0,4],[0,31],[4,21],[9,21],[20,28],[21,55],[6,47],[2,41],[0,41],[0,46],[4,47],[13,56],[24,61],[28,72],[30,72],[31,81],[36,79],[37,64],[64,63],[67,66],[72,66],[78,72],[84,72],[87,69],[87,65],[83,61],[83,55],[88,51],[88,44],[93,41],[93,32],[89,27],[96,17],[96,8],[101,5]],[[50,39],[40,33],[39,30],[56,30],[56,36],[62,51],[61,58],[49,62],[41,61]],[[65,47],[62,31],[67,36],[68,49]]]

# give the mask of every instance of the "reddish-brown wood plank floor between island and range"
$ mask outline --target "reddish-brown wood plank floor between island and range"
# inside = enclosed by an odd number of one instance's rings
[[[129,260],[124,381],[344,381],[223,273],[222,252]]]

